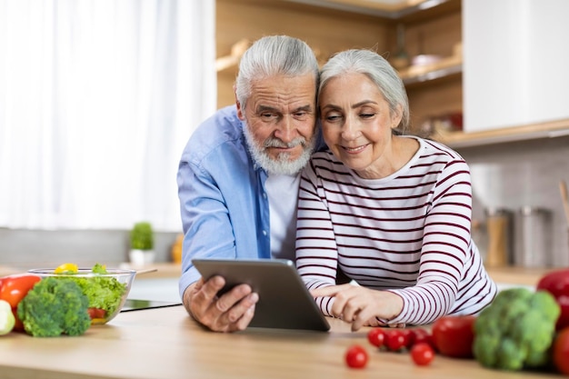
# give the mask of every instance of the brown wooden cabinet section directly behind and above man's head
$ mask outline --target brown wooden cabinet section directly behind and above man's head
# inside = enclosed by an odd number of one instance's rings
[[[374,15],[340,12],[284,0],[216,0],[217,107],[235,104],[240,45],[263,35],[292,35],[314,48],[321,62],[354,46],[385,51],[388,26]],[[227,58],[227,59],[225,59]],[[223,65],[225,61],[225,64]]]

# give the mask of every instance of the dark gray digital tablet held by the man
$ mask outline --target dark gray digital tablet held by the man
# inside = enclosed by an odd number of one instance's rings
[[[251,285],[259,294],[259,301],[249,327],[323,332],[330,329],[290,260],[194,259],[192,263],[206,280],[223,276],[224,293],[237,284]]]

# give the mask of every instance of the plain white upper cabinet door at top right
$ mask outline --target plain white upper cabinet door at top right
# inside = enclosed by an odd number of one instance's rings
[[[569,118],[568,20],[568,0],[463,0],[466,132]]]

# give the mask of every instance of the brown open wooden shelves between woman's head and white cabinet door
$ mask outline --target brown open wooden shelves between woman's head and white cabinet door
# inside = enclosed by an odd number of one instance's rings
[[[404,50],[413,59],[434,56],[430,65],[399,69],[409,98],[412,133],[425,135],[434,119],[463,112],[461,2],[449,1],[427,10],[415,9],[388,21],[388,54],[399,49],[398,28],[404,30]],[[460,124],[459,124],[460,125]]]

